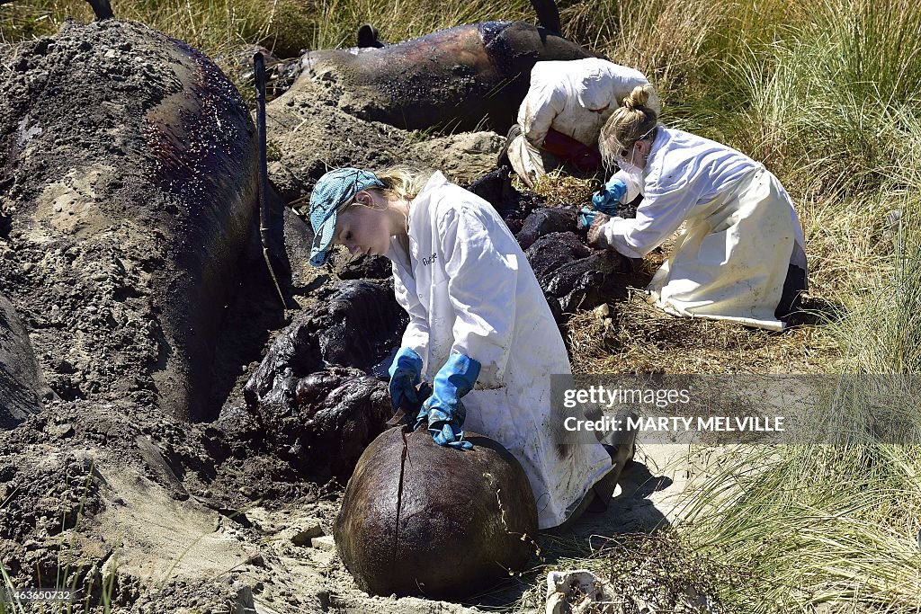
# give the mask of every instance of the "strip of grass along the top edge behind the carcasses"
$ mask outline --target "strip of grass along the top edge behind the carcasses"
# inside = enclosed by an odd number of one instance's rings
[[[370,23],[383,41],[398,42],[436,29],[490,19],[536,17],[528,0],[443,3],[432,0],[112,0],[120,19],[132,19],[212,55],[247,43],[280,57],[301,50],[356,44],[358,26]],[[83,20],[83,0],[17,0],[0,6],[0,41],[52,34],[66,16]]]

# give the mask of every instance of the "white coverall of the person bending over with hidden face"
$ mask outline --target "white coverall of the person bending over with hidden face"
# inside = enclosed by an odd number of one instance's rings
[[[512,168],[526,181],[545,174],[539,148],[551,128],[594,147],[604,122],[624,98],[648,83],[638,70],[600,58],[534,64],[528,94],[519,107],[521,135],[507,145]],[[647,104],[659,112],[655,93]]]

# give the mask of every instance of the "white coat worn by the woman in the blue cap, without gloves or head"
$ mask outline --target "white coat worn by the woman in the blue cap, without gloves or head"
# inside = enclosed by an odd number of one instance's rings
[[[408,245],[407,245],[408,244]],[[519,460],[537,501],[540,527],[565,521],[612,469],[600,445],[552,441],[561,420],[550,376],[570,374],[565,345],[541,286],[515,237],[483,199],[435,173],[414,199],[408,241],[394,237],[397,300],[409,313],[402,345],[432,381],[451,351],[482,365],[463,398],[463,428],[495,439]]]

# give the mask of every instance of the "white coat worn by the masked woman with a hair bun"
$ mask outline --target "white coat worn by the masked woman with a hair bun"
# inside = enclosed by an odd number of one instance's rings
[[[602,226],[607,244],[642,258],[682,224],[647,290],[669,313],[783,330],[774,311],[789,264],[807,270],[802,226],[773,174],[752,158],[691,133],[659,126],[645,170],[615,173],[635,219]]]

